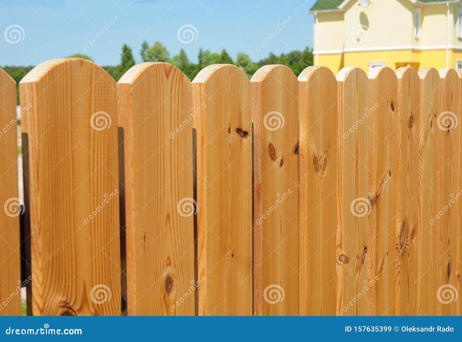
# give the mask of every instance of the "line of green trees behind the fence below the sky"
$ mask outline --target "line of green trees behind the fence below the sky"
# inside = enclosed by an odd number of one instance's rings
[[[67,57],[78,57],[92,60],[90,56],[85,54],[72,54]],[[237,54],[236,60],[233,60],[225,49],[221,53],[210,52],[210,50],[199,49],[198,63],[193,63],[189,60],[186,52],[181,49],[179,54],[170,57],[170,52],[161,42],[155,42],[152,46],[144,41],[141,44],[140,50],[141,61],[143,62],[165,62],[170,63],[179,68],[192,81],[196,75],[205,66],[211,64],[233,64],[238,66],[251,78],[252,75],[261,67],[268,64],[282,64],[288,66],[295,75],[299,75],[307,66],[313,65],[313,51],[305,47],[304,50],[293,50],[288,54],[280,54],[279,56],[270,52],[265,59],[254,62],[248,54],[242,52]],[[123,44],[121,51],[120,64],[115,66],[102,66],[109,75],[118,81],[122,75],[136,64],[132,48],[127,44]],[[10,74],[14,80],[19,81],[33,68],[33,66],[5,66],[3,69]],[[19,87],[17,87],[17,97],[19,104]]]

